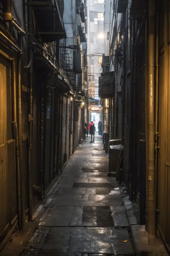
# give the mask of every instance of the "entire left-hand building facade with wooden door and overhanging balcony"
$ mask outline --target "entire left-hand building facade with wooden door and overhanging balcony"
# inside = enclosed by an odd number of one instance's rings
[[[0,250],[14,229],[32,221],[82,139],[85,6],[0,1]]]

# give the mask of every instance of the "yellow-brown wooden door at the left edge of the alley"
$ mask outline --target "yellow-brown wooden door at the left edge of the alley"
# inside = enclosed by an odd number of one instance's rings
[[[18,217],[10,74],[10,62],[0,56],[0,243]]]

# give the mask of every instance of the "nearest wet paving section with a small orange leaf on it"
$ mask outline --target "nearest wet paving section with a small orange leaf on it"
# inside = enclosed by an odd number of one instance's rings
[[[50,228],[42,249],[114,255],[134,254],[127,229],[115,228]]]

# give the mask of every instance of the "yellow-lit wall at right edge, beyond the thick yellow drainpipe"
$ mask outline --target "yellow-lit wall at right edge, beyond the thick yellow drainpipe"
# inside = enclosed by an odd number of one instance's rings
[[[158,228],[170,250],[170,3],[159,5],[159,83],[158,83],[158,174],[157,174],[157,216]],[[156,114],[156,113],[155,113]]]

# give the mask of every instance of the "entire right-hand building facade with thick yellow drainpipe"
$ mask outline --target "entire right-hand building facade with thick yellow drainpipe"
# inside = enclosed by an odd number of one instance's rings
[[[167,0],[106,1],[108,48],[99,77],[99,95],[108,104],[103,115],[110,139],[122,139],[121,175],[139,204],[139,224],[146,224],[150,244],[159,235],[168,249],[169,11]]]

